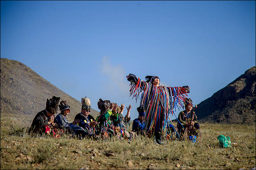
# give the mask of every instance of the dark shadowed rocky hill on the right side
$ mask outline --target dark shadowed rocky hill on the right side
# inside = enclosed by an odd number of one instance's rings
[[[255,124],[255,67],[252,67],[195,108],[198,120],[211,123]]]

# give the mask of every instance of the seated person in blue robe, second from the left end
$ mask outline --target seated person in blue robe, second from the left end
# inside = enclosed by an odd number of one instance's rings
[[[81,139],[84,137],[90,137],[90,135],[84,130],[84,128],[76,125],[80,120],[74,120],[73,123],[69,123],[66,117],[70,113],[70,107],[66,101],[61,101],[59,104],[60,114],[56,116],[60,128],[63,129],[65,134],[71,134],[79,136]]]

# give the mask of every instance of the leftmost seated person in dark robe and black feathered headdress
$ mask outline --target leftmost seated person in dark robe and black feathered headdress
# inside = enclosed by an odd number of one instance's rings
[[[53,137],[59,137],[60,129],[54,114],[58,111],[60,97],[53,96],[46,101],[46,108],[37,113],[34,117],[29,134],[49,134]]]

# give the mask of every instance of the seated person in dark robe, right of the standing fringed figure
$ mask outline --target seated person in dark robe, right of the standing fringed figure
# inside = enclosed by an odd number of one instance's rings
[[[200,126],[197,123],[197,116],[193,109],[192,100],[189,98],[184,103],[185,110],[181,111],[178,115],[177,129],[180,134],[179,140],[187,138],[188,140],[193,136],[198,136]]]

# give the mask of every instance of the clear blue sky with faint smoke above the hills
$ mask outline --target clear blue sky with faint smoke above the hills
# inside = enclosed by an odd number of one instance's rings
[[[129,73],[189,85],[199,104],[255,66],[255,1],[1,1],[1,58],[134,119]]]

